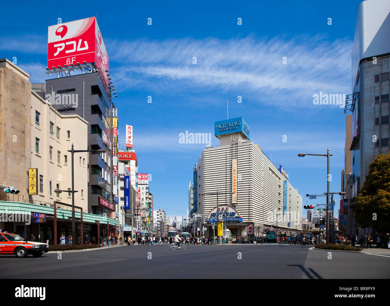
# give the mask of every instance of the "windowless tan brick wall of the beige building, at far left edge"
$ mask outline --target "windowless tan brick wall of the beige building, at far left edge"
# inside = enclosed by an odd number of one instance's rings
[[[31,163],[29,75],[7,59],[0,59],[0,184],[14,186],[18,195],[1,190],[0,200],[28,201]]]

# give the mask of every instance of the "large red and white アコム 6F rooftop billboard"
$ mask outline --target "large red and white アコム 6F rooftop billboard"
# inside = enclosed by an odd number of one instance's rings
[[[108,54],[96,18],[51,25],[48,28],[48,68],[82,65],[83,62],[94,62],[108,85],[105,73]]]

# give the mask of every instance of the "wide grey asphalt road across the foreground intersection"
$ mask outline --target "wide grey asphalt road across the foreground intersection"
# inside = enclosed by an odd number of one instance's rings
[[[61,256],[0,256],[0,278],[390,278],[390,257],[332,252],[328,259],[328,251],[294,245],[190,245],[176,251],[169,245],[135,245]]]

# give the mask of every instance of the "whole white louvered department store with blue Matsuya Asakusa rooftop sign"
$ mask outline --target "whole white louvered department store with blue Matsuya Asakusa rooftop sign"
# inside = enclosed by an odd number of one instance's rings
[[[232,236],[272,230],[294,235],[302,229],[301,195],[284,169],[277,169],[261,148],[250,142],[249,133],[242,117],[216,122],[220,147],[206,148],[200,155],[196,213],[202,215],[208,237],[213,237],[211,219],[217,212]]]

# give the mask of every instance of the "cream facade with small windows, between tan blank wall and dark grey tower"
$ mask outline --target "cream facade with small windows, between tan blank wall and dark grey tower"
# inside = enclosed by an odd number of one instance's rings
[[[33,201],[72,205],[72,154],[87,150],[88,122],[76,114],[60,114],[48,101],[31,91],[31,168],[38,169],[38,194]],[[74,153],[75,206],[88,212],[88,154]]]

